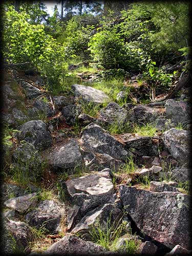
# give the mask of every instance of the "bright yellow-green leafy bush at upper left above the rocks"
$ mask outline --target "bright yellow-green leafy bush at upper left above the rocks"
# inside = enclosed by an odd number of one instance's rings
[[[44,25],[31,25],[26,12],[12,6],[4,15],[4,58],[10,63],[29,61],[47,78],[50,88],[62,84],[67,74],[65,47],[46,35]]]

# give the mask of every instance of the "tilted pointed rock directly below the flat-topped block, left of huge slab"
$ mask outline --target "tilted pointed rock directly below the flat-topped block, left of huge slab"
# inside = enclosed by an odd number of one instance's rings
[[[72,233],[81,233],[84,238],[89,239],[89,231],[97,229],[98,225],[105,230],[106,228],[116,229],[122,217],[122,211],[113,204],[104,204],[101,207],[89,211],[81,221],[72,229]]]

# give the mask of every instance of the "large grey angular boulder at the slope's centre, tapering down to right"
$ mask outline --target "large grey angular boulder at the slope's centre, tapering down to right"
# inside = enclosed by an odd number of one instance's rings
[[[91,152],[108,154],[114,159],[125,160],[131,156],[124,150],[123,145],[106,133],[99,125],[91,123],[80,134],[82,146]]]

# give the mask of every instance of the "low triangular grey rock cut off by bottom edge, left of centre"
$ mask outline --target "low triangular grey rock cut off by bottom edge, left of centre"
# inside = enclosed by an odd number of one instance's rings
[[[102,246],[92,242],[86,242],[77,236],[67,233],[65,237],[51,245],[43,254],[90,255],[101,251],[105,251]]]

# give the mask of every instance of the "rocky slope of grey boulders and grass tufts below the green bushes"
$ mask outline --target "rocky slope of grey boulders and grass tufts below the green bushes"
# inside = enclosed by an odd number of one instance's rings
[[[4,146],[5,253],[189,254],[188,96],[120,105],[91,83],[72,91],[4,76],[3,117],[16,130]]]

